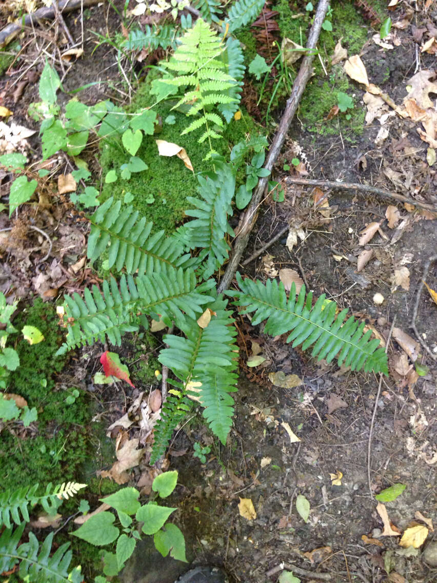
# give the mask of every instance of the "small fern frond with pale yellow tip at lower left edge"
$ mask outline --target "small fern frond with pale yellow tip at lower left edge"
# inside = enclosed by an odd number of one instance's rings
[[[38,484],[31,487],[23,487],[11,492],[6,490],[0,493],[0,526],[5,525],[11,528],[12,522],[19,525],[22,520],[29,522],[29,506],[33,508],[36,504],[41,504],[44,510],[51,514],[58,508],[58,500],[74,496],[78,490],[84,488],[86,484],[68,482],[58,484],[52,488],[52,484],[47,484],[43,496],[37,496]],[[21,514],[21,516],[20,516]],[[0,571],[1,573],[1,571]]]

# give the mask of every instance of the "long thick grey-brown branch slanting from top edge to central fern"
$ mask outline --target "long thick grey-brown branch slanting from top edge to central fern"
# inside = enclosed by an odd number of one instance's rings
[[[297,106],[299,101],[302,97],[302,93],[304,93],[306,83],[308,83],[309,78],[312,74],[312,61],[315,57],[315,51],[317,41],[319,40],[320,30],[322,30],[323,20],[325,20],[326,10],[329,6],[329,0],[319,0],[319,4],[317,6],[316,15],[314,17],[314,22],[311,27],[311,31],[309,32],[308,37],[308,44],[306,45],[306,49],[308,50],[308,54],[305,55],[304,60],[302,61],[301,68],[299,69],[299,73],[294,80],[293,87],[291,90],[291,95],[287,100],[287,105],[284,111],[284,114],[281,118],[279,128],[274,136],[272,146],[270,146],[269,153],[267,154],[267,160],[265,163],[265,168],[267,170],[272,170],[274,163],[279,156],[281,148],[284,144],[284,141],[287,136],[288,129],[290,128],[291,121],[294,117],[295,111],[297,110]],[[234,243],[234,252],[232,253],[232,257],[228,262],[226,267],[226,271],[221,278],[220,284],[218,285],[218,293],[223,292],[224,290],[228,289],[232,278],[237,271],[237,267],[239,264],[239,260],[241,259],[241,255],[246,248],[246,245],[249,241],[249,235],[251,230],[253,229],[253,225],[256,222],[256,216],[258,215],[258,208],[260,205],[260,201],[264,196],[267,184],[269,182],[269,178],[260,178],[258,185],[255,188],[255,191],[252,195],[252,201],[249,205],[249,208],[244,213],[244,217],[242,219],[242,227],[235,238]]]

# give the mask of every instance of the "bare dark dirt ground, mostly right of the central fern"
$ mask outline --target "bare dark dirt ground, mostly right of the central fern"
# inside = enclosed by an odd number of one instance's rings
[[[104,22],[101,10],[90,10],[86,29],[103,34],[106,26],[118,30],[117,15],[109,10]],[[437,26],[435,9],[426,18],[420,12],[417,17],[424,19],[416,22],[419,28],[426,26],[426,22]],[[71,15],[66,17],[66,23],[73,37],[79,37],[79,20]],[[31,32],[28,34],[30,39]],[[38,34],[43,33],[36,31],[36,37]],[[401,43],[393,50],[384,50],[369,41],[361,58],[369,80],[401,103],[406,95],[406,82],[415,71],[417,52],[409,27],[397,30],[397,37]],[[89,104],[105,97],[125,100],[122,92],[126,93],[126,89],[121,89],[111,47],[102,45],[91,55],[94,40],[88,32],[86,38],[86,59],[66,71],[65,88],[71,90],[109,78],[109,84],[89,87],[80,94],[80,99]],[[36,45],[32,46],[36,51]],[[29,62],[32,56],[27,54]],[[419,58],[422,69],[435,71],[435,55],[424,54]],[[37,72],[41,66],[39,62]],[[13,103],[11,91],[16,86],[11,89],[10,84],[14,75],[12,67],[10,74],[0,79],[2,105],[14,110],[16,122],[37,129],[26,116],[28,104],[37,100],[37,83],[29,79],[22,95]],[[364,94],[358,85],[355,93]],[[432,98],[435,102],[435,94]],[[420,139],[417,127],[416,122],[390,116],[386,139],[375,144],[381,128],[378,119],[364,125],[358,138],[347,132],[315,135],[306,131],[298,119],[292,125],[274,172],[276,180],[284,182],[286,201],[263,205],[244,259],[288,222],[296,229],[304,229],[305,240],[299,239],[290,251],[285,233],[241,271],[262,280],[273,273],[277,275],[280,269],[297,271],[315,295],[325,293],[328,299],[334,298],[340,308],[348,307],[350,313],[365,319],[381,338],[390,337],[390,376],[383,378],[376,403],[379,377],[352,373],[325,361],[317,363],[308,353],[292,349],[285,342],[286,335],[270,338],[263,334],[262,326],[252,327],[247,317],[237,314],[241,376],[228,443],[218,447],[199,420],[191,419],[175,435],[168,456],[170,469],[179,472],[178,487],[170,502],[178,508],[175,519],[185,534],[188,556],[193,564],[223,567],[230,583],[278,581],[283,563],[306,582],[431,583],[437,578],[435,566],[427,564],[422,556],[424,548],[437,541],[435,533],[429,532],[425,546],[417,552],[406,552],[399,546],[399,538],[381,536],[382,520],[369,492],[369,488],[377,493],[394,483],[407,485],[402,496],[386,503],[390,521],[400,531],[417,518],[417,512],[436,518],[437,319],[436,305],[425,289],[415,314],[425,266],[435,257],[435,215],[368,192],[340,187],[322,189],[327,192],[330,208],[323,215],[313,202],[312,186],[286,182],[290,176],[366,182],[386,191],[417,196],[420,201],[437,206],[435,165],[430,167],[425,161],[428,145]],[[36,145],[37,136],[33,139]],[[284,171],[284,164],[291,165],[291,159],[297,156],[304,163],[301,172]],[[6,178],[3,176],[2,180]],[[392,228],[386,219],[388,205],[399,209],[397,226]],[[59,209],[57,220],[64,217],[75,227],[74,254],[84,245],[80,233],[82,236],[86,233],[82,223],[75,223],[75,215],[68,208],[67,205]],[[6,217],[0,217],[0,228],[8,226]],[[380,222],[380,231],[364,247],[358,243],[360,233],[372,222]],[[29,237],[29,247],[37,245],[36,237]],[[357,272],[357,258],[364,248],[373,254]],[[36,275],[33,264],[23,262],[23,257],[17,255],[9,258],[8,266],[8,257],[3,254],[2,266],[8,270],[3,273],[8,273],[15,288],[26,296],[29,293],[26,281]],[[396,285],[395,272],[406,273],[402,268],[407,268],[408,281],[403,279]],[[82,281],[66,282],[62,292],[80,289],[92,278],[88,271]],[[435,262],[429,265],[427,283],[432,289],[437,288]],[[0,284],[5,291],[5,280]],[[382,304],[374,303],[375,293],[384,296]],[[413,318],[431,352],[428,354],[417,344],[420,362],[430,368],[428,374],[418,378],[411,375],[413,366],[394,332],[399,329],[417,340],[411,328]],[[246,365],[252,343],[258,343],[266,357],[261,367]],[[86,352],[86,369],[77,355],[80,378],[85,383],[94,373],[101,350]],[[268,374],[277,371],[297,375],[301,384],[294,388],[273,385]],[[117,418],[117,409],[124,411],[126,402],[129,404],[138,395],[117,389],[109,395],[111,390],[105,388],[101,394],[102,402],[111,401],[114,411],[107,416],[108,423]],[[298,436],[298,442],[292,442],[284,424]],[[371,427],[373,437],[369,445]],[[193,458],[195,442],[210,445],[206,463]],[[140,472],[141,468],[134,470],[132,485]],[[333,485],[330,475],[337,472],[343,477],[340,485]],[[299,494],[311,506],[306,523],[295,507]],[[252,500],[255,519],[248,521],[239,515],[240,498]],[[152,552],[136,553],[122,580],[172,583],[177,572],[186,570],[185,565],[179,564],[166,574],[170,569],[168,563],[173,560],[167,559],[164,567],[157,561]],[[157,569],[158,564],[162,570]]]

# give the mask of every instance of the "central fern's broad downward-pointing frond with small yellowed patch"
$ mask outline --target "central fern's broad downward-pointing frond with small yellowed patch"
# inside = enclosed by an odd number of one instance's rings
[[[166,335],[168,345],[158,360],[181,380],[185,394],[195,398],[205,408],[203,416],[213,433],[225,444],[232,424],[234,399],[237,391],[234,336],[237,335],[227,301],[216,300],[210,305],[213,312],[206,328],[194,319],[187,319],[180,328],[181,336]]]

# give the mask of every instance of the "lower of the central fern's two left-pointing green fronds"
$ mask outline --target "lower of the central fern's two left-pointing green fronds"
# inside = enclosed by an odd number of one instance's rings
[[[122,275],[119,286],[114,278],[111,284],[103,282],[103,293],[97,286],[91,291],[84,289],[84,299],[75,293],[65,296],[64,310],[67,321],[66,342],[57,354],[64,354],[76,346],[93,344],[96,340],[119,346],[124,332],[138,329],[138,312],[161,318],[168,325],[172,319],[184,321],[185,312],[196,317],[202,312],[201,306],[212,297],[203,295],[214,286],[214,282],[203,282],[196,287],[196,276],[192,269],[168,268],[167,272],[152,273],[150,276]],[[142,320],[143,324],[147,324]]]

